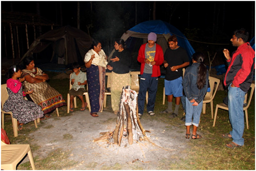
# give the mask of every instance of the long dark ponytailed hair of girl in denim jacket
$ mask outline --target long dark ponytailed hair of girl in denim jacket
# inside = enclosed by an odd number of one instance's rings
[[[200,66],[198,67],[198,74],[197,74],[197,81],[196,81],[197,88],[200,90],[206,84],[207,68],[206,68],[206,65],[204,64],[204,55],[200,52],[197,52],[192,55],[192,59],[194,59],[197,63],[200,64]]]

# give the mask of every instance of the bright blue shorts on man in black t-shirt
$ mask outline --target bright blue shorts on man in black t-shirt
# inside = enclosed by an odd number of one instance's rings
[[[182,97],[182,77],[168,81],[164,79],[165,95],[173,95],[174,97]]]

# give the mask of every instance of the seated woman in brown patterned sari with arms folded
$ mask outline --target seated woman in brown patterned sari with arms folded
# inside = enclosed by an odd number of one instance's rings
[[[46,82],[49,79],[48,75],[40,68],[34,67],[33,57],[26,57],[23,63],[26,67],[26,69],[22,70],[21,76],[21,78],[25,78],[25,81],[22,83],[24,91],[34,91],[32,94],[29,94],[27,99],[40,105],[45,117],[50,118],[50,115],[47,113],[66,105],[66,102],[62,98],[61,93]],[[44,117],[41,119],[44,119]]]

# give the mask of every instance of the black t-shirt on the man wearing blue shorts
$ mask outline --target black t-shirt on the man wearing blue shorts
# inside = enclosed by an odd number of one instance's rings
[[[178,69],[178,72],[172,71],[172,66],[182,65],[184,62],[189,62],[189,58],[185,49],[181,46],[175,50],[170,48],[166,49],[164,53],[164,60],[167,61],[165,79],[168,81],[182,77],[182,68]]]

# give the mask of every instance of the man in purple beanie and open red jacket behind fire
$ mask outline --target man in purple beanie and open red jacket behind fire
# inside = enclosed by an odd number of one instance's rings
[[[143,115],[146,92],[148,91],[147,111],[155,115],[155,97],[158,77],[161,75],[160,65],[163,62],[162,47],[156,44],[157,35],[148,34],[148,43],[141,45],[137,60],[141,63],[141,81],[138,95],[139,116]]]

